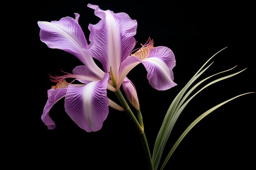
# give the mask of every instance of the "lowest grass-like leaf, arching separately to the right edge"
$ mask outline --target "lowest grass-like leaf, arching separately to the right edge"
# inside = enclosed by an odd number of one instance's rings
[[[254,93],[254,92],[250,92],[250,93]],[[166,159],[164,160],[164,163],[162,164],[160,170],[163,170],[164,169],[164,166],[166,165],[167,161],[170,159],[171,155],[173,154],[174,150],[177,148],[177,146],[180,144],[180,142],[182,141],[182,139],[186,136],[186,134],[200,121],[202,120],[204,117],[206,117],[207,115],[209,115],[209,113],[213,112],[213,110],[216,110],[217,108],[219,108],[220,106],[226,104],[227,102],[230,102],[231,100],[237,98],[237,97],[240,97],[240,96],[243,96],[243,95],[246,95],[246,94],[249,94],[249,93],[244,93],[244,94],[241,94],[241,95],[238,95],[236,97],[233,97],[225,102],[222,102],[216,106],[214,106],[213,108],[207,110],[206,112],[204,112],[202,115],[200,115],[197,119],[195,119],[195,121],[192,122],[192,124],[189,125],[188,128],[186,128],[186,130],[182,133],[182,135],[179,137],[179,139],[176,141],[176,143],[173,145],[173,148],[171,149],[171,151],[168,153]]]

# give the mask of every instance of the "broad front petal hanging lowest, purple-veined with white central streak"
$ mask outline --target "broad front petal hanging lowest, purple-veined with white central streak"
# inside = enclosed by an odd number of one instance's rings
[[[110,76],[85,86],[67,88],[65,110],[71,119],[87,132],[100,130],[108,116],[107,84]]]

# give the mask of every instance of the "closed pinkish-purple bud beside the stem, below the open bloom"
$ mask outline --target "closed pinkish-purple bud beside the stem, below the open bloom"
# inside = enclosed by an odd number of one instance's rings
[[[130,81],[130,79],[125,77],[122,83],[122,87],[124,90],[124,94],[126,95],[130,104],[132,104],[133,107],[139,110],[139,99],[134,84]]]

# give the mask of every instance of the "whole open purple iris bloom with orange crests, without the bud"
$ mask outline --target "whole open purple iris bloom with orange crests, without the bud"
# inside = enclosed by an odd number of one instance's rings
[[[175,57],[171,49],[154,47],[153,40],[149,38],[139,50],[133,50],[136,20],[126,13],[101,10],[97,5],[88,4],[88,7],[94,9],[94,14],[101,19],[97,24],[88,26],[90,43],[78,23],[78,13],[75,13],[75,18],[38,21],[42,42],[49,48],[71,53],[83,63],[74,68],[72,74],[51,77],[57,84],[48,90],[48,100],[41,117],[48,129],[56,126],[49,110],[65,97],[65,111],[80,128],[87,132],[100,130],[108,116],[108,106],[123,110],[108,99],[107,89],[118,91],[126,75],[139,63],[145,66],[153,88],[167,90],[177,85],[173,82]],[[95,59],[101,62],[103,70],[94,62]],[[66,78],[74,78],[82,84],[68,83]]]

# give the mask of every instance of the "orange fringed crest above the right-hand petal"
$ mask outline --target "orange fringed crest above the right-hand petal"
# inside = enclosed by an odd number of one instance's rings
[[[141,46],[142,47],[134,54],[131,54],[131,56],[135,56],[139,60],[144,60],[146,57],[148,57],[150,50],[154,48],[154,42],[153,40],[148,38],[148,41],[146,42],[146,44],[144,45],[141,44]]]

